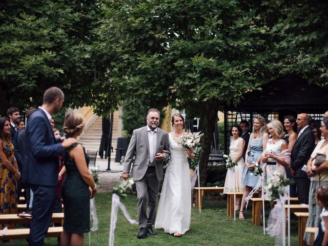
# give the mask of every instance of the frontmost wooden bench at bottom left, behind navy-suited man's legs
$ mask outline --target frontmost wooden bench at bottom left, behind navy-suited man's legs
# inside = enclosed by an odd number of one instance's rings
[[[47,237],[60,237],[63,232],[63,227],[49,227]],[[0,230],[0,235],[3,230]],[[30,229],[9,229],[4,236],[0,236],[0,240],[11,240],[11,239],[24,239],[29,238]]]

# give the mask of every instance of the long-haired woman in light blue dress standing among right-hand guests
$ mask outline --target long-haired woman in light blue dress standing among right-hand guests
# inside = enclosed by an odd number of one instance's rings
[[[267,124],[262,116],[257,116],[253,122],[253,132],[245,155],[245,166],[242,172],[241,183],[245,186],[241,199],[239,219],[244,220],[243,209],[246,205],[245,197],[248,197],[253,187],[256,186],[259,176],[254,175],[255,162],[260,163],[263,149],[267,146],[269,134]]]

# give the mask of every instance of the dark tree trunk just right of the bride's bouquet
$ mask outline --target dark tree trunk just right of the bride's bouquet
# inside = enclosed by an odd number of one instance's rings
[[[207,167],[209,162],[209,156],[211,153],[211,143],[213,139],[213,133],[215,130],[215,124],[217,124],[217,112],[219,110],[219,102],[215,99],[203,101],[201,103],[201,113],[199,120],[199,131],[204,135],[201,138],[202,153],[200,155],[200,185],[206,186],[207,181]]]

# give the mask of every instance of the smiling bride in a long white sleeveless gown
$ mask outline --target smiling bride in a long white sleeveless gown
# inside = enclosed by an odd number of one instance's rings
[[[174,131],[169,133],[171,159],[163,181],[155,228],[179,237],[190,227],[191,181],[187,157],[194,158],[194,150],[176,143],[177,138],[186,134],[183,131],[185,119],[181,114],[172,116],[172,126]]]

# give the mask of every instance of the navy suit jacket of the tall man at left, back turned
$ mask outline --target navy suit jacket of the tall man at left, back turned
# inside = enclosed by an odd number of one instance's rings
[[[53,135],[49,119],[42,109],[35,111],[26,127],[27,162],[23,167],[23,181],[39,186],[56,186],[59,155],[65,150]]]

